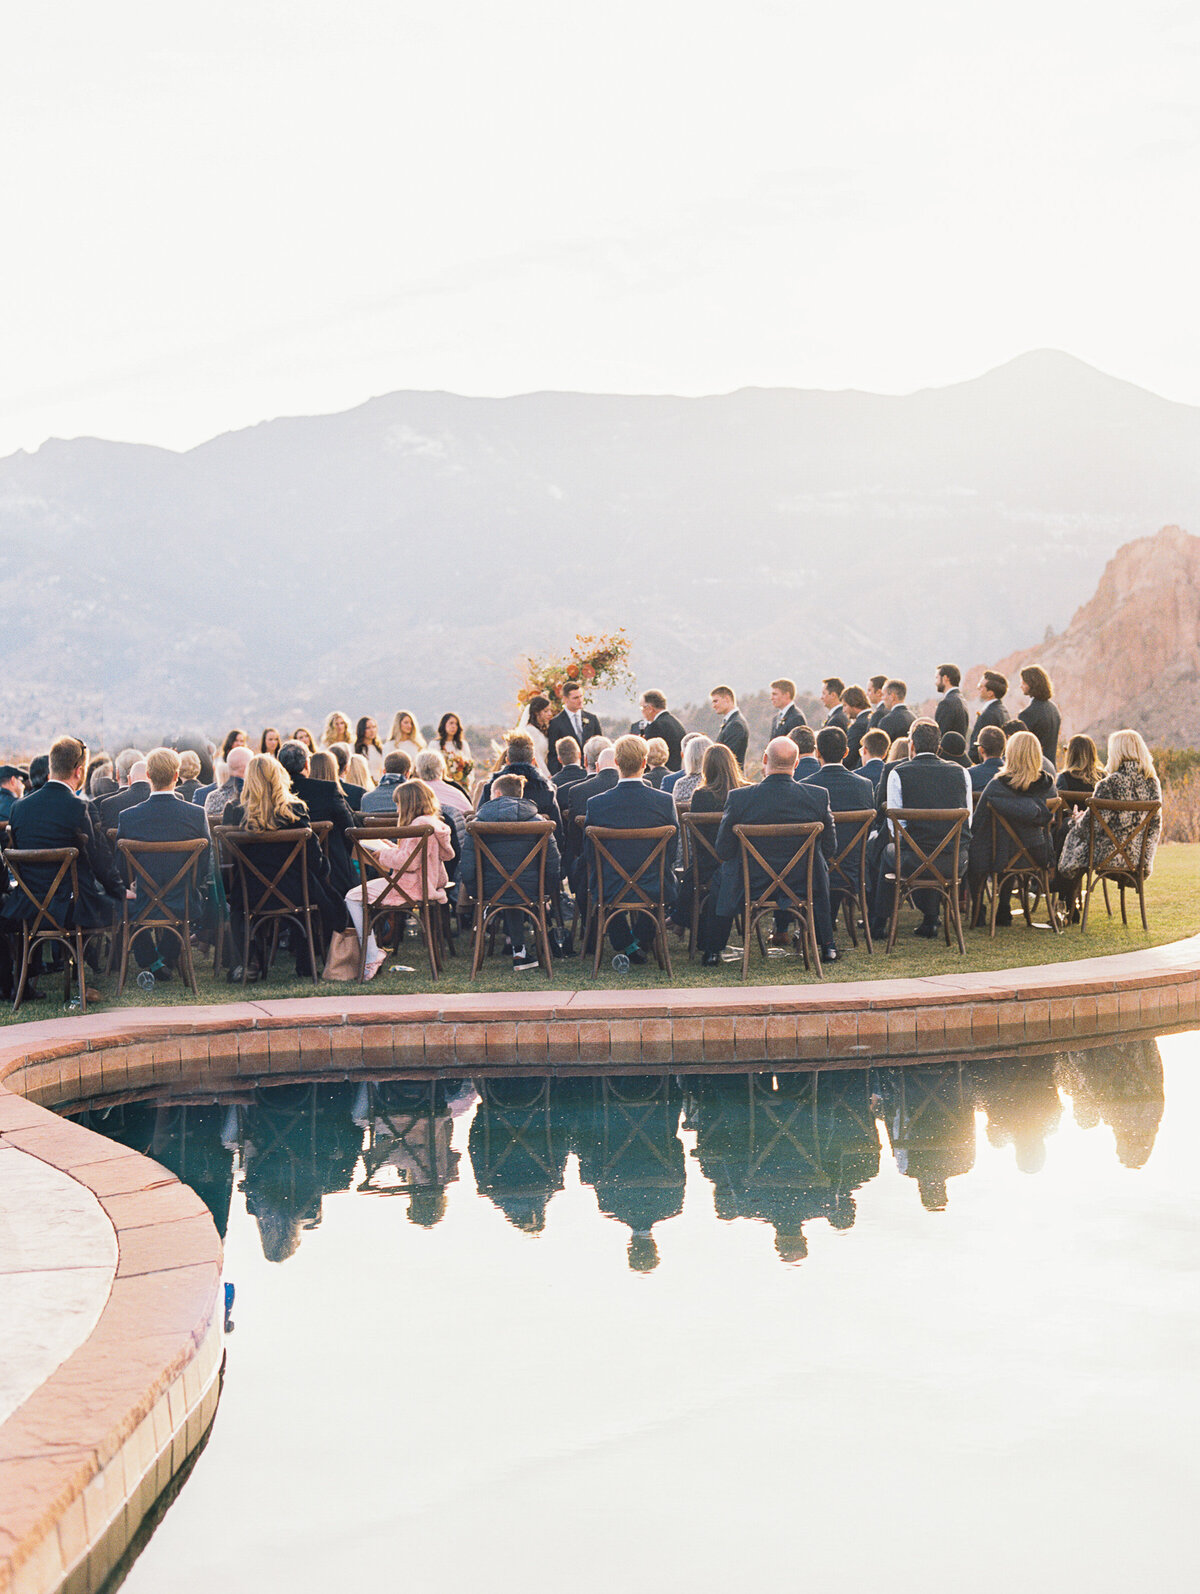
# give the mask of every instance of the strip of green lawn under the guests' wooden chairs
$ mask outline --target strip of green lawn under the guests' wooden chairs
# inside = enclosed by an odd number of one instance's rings
[[[1146,947],[1159,947],[1170,940],[1181,940],[1200,931],[1200,843],[1170,843],[1159,848],[1154,862],[1154,875],[1147,889],[1149,934],[1141,928],[1136,912],[1136,901],[1130,910],[1128,928],[1122,926],[1117,913],[1109,920],[1100,896],[1092,902],[1087,934],[1080,934],[1079,926],[1071,926],[1061,936],[1050,934],[1049,929],[1026,929],[1025,920],[1017,917],[1010,929],[998,929],[996,939],[988,937],[986,929],[966,931],[967,952],[959,956],[956,947],[947,948],[942,939],[916,940],[912,934],[916,915],[905,912],[900,915],[900,932],[896,950],[891,956],[876,947],[873,956],[859,942],[854,950],[848,945],[845,929],[838,932],[841,956],[825,969],[825,980],[862,980],[862,979],[912,979],[926,974],[961,974],[964,971],[1010,969],[1036,966],[1039,963],[1063,963],[1074,958],[1098,958],[1112,952],[1136,952]],[[1116,893],[1114,893],[1116,909]],[[1034,915],[1036,917],[1036,915]],[[413,995],[430,990],[454,991],[512,991],[512,990],[628,990],[665,988],[665,987],[711,987],[741,985],[741,960],[725,963],[719,969],[701,969],[700,961],[688,963],[685,944],[680,947],[671,940],[671,958],[674,977],[650,960],[645,968],[629,969],[628,974],[617,974],[606,955],[601,972],[591,977],[591,960],[559,958],[555,963],[555,979],[548,982],[545,976],[531,969],[524,974],[513,974],[510,963],[497,956],[484,963],[478,980],[472,982],[469,937],[459,939],[459,956],[451,958],[440,980],[429,976],[429,963],[419,942],[410,940],[403,956],[390,960],[382,971],[370,982],[357,983],[325,983],[314,985],[311,980],[300,980],[292,971],[292,960],[280,953],[276,971],[266,980],[242,988],[226,983],[225,977],[212,977],[212,958],[204,964],[198,963],[199,999],[201,1003],[226,1003],[284,998],[284,996],[328,996],[343,991],[349,996],[370,995]],[[411,974],[392,974],[389,964],[406,963]],[[757,948],[751,955],[751,985],[790,985],[797,982],[814,982],[814,976],[805,974],[803,963],[787,955],[771,956],[763,961]],[[121,999],[116,999],[116,979],[89,980],[100,995],[97,1011],[115,1007],[169,1007],[190,1006],[194,998],[186,985],[174,980],[169,985],[158,985],[153,993],[142,991],[132,977],[126,985]],[[41,988],[46,991],[45,1001],[30,1003],[13,1017],[8,1007],[0,1012],[0,1025],[21,1023],[25,1020],[61,1017],[64,1007],[59,1001],[62,985],[61,976],[45,977]],[[92,1009],[89,1009],[92,1011]]]

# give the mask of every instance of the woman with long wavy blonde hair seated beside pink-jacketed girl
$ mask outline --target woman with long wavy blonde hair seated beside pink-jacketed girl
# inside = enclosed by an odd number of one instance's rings
[[[284,743],[284,748],[287,746],[292,746],[292,743]],[[234,748],[229,757],[233,759],[239,752],[249,754],[249,748]],[[292,781],[288,779],[284,765],[279,759],[273,759],[269,752],[255,752],[245,765],[241,797],[228,805],[222,816],[222,824],[233,826],[237,830],[298,830],[308,826],[308,823],[309,811],[292,789]],[[266,850],[266,858],[261,858],[260,853],[253,854],[258,867],[268,880],[271,880],[276,869],[282,866],[290,848],[290,842],[280,842],[279,846]],[[304,846],[304,861],[308,866],[309,902],[317,909],[320,926],[325,934],[325,940],[328,942],[335,931],[346,929],[349,918],[341,897],[331,886],[330,861],[325,856],[325,850],[316,834],[309,834]],[[293,861],[292,867],[279,881],[279,888],[284,894],[296,902],[301,894],[300,869],[300,859]],[[250,875],[249,870],[247,880],[250,901],[253,904],[258,901],[260,894],[265,893],[265,888],[253,878],[253,875]],[[239,870],[234,870],[233,891],[229,896],[229,928],[233,931],[236,958],[241,958],[245,945],[245,907],[247,904],[242,899]],[[304,937],[293,932],[293,945],[296,953],[296,974],[312,974],[308,961],[308,942]],[[241,980],[241,966],[229,969],[228,977],[231,982]]]

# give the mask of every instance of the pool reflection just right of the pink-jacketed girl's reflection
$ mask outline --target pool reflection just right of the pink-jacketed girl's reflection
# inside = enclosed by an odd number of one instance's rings
[[[467,1149],[475,1188],[523,1234],[545,1229],[571,1149],[563,1087],[543,1079],[481,1079]]]

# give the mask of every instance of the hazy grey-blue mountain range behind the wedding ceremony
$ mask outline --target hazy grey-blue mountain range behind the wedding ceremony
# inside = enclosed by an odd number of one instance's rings
[[[186,453],[51,440],[0,461],[0,743],[504,722],[524,652],[618,625],[669,701],[880,669],[916,700],[1197,508],[1200,408],[1053,351],[905,397],[395,392]]]

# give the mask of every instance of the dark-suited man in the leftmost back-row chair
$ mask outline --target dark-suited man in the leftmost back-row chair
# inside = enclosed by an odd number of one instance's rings
[[[112,925],[124,897],[124,881],[100,846],[92,827],[91,808],[80,797],[88,773],[88,748],[75,736],[59,736],[49,749],[48,779],[38,789],[13,803],[8,816],[10,846],[43,851],[51,848],[78,848],[76,877],[78,896],[70,901],[70,878],[59,885],[54,913],[80,929],[100,929]],[[41,896],[49,891],[57,874],[54,864],[35,864],[22,870],[30,891]],[[10,891],[5,897],[3,918],[11,929],[19,929],[25,920],[33,920],[37,909],[24,891]],[[80,979],[83,979],[81,971]],[[91,998],[89,998],[91,999]]]

